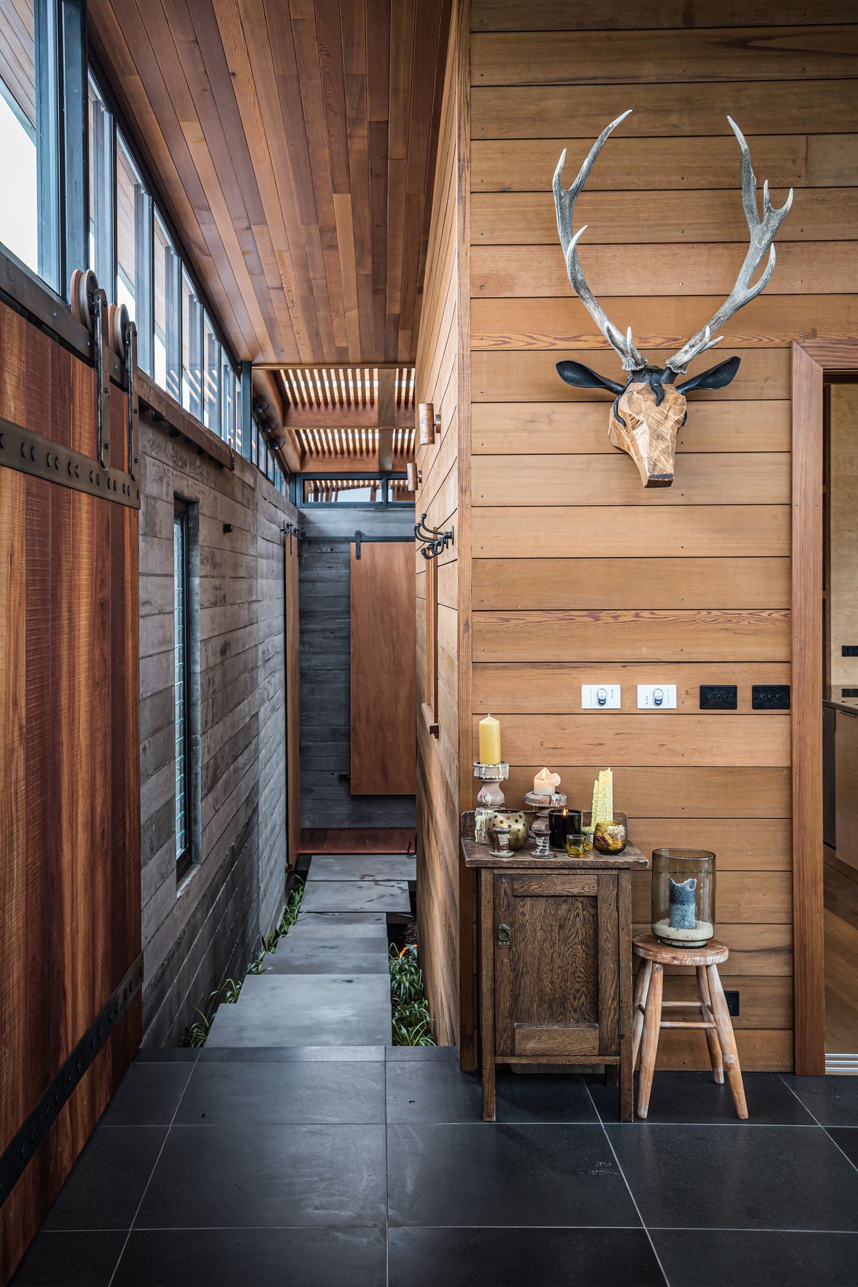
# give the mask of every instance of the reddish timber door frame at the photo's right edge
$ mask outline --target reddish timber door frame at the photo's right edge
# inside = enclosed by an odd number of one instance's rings
[[[822,449],[827,377],[858,372],[858,338],[792,344],[792,932],[795,1071],[826,1071],[822,884]]]

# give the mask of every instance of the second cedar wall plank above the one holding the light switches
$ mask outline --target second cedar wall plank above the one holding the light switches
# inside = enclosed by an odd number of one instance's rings
[[[481,609],[788,607],[788,559],[477,559]]]

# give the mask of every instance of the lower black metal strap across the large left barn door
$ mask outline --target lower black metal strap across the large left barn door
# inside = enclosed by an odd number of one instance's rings
[[[63,1104],[71,1099],[95,1055],[115,1032],[119,1019],[140,991],[142,983],[143,955],[140,954],[6,1147],[0,1158],[0,1206],[21,1179],[24,1167],[53,1126]]]

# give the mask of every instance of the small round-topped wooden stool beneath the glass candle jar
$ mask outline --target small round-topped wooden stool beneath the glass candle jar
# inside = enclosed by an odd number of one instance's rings
[[[719,1086],[724,1085],[724,1073],[729,1082],[736,1104],[736,1113],[745,1120],[747,1103],[742,1085],[736,1036],[727,1009],[727,997],[718,973],[718,967],[729,956],[729,951],[718,938],[711,938],[705,947],[667,947],[660,943],[654,934],[640,934],[633,938],[631,949],[640,956],[633,1009],[633,1049],[631,1067],[638,1062],[640,1051],[640,1082],[638,1085],[638,1117],[645,1117],[649,1111],[649,1091],[658,1051],[658,1032],[661,1028],[703,1028],[709,1058]],[[694,965],[697,969],[697,990],[700,1001],[662,1001],[665,965]],[[661,1012],[698,1009],[700,1022],[662,1019]]]

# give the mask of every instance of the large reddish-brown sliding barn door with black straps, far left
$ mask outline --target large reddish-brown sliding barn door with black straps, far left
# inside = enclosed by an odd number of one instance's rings
[[[0,305],[0,1282],[139,1045],[138,494],[113,389]],[[106,408],[107,409],[107,408]]]

